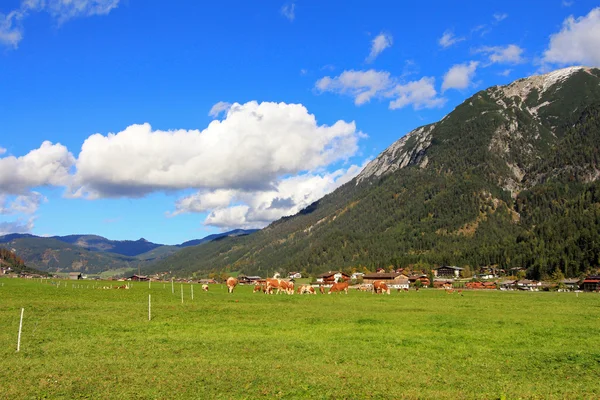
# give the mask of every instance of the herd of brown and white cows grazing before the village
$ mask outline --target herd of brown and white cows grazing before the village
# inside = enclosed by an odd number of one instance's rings
[[[227,283],[227,291],[229,293],[233,293],[233,290],[235,289],[235,287],[238,285],[239,282],[236,278],[229,277],[227,279],[226,283]],[[333,283],[329,287],[329,291],[327,293],[331,294],[331,293],[344,292],[344,293],[348,294],[348,287],[349,287],[348,282],[336,282],[336,283]],[[362,288],[363,288],[363,290],[366,290],[367,288],[369,288],[369,290],[373,293],[390,294],[390,288],[383,281],[375,281],[375,282],[373,282],[372,286],[363,286]],[[206,289],[206,290],[208,290],[208,289]],[[295,286],[294,286],[293,281],[279,279],[279,278],[267,278],[265,280],[264,284],[256,283],[254,285],[253,292],[254,293],[263,292],[265,294],[273,294],[273,293],[276,293],[276,294],[279,294],[279,293],[317,294],[315,288],[311,285],[300,285],[298,287],[298,290],[295,291]],[[321,292],[321,294],[325,294],[325,287],[323,285],[319,285],[319,292]]]

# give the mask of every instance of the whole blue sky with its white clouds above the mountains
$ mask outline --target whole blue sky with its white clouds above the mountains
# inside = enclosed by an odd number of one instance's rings
[[[478,90],[600,66],[597,2],[401,3],[2,1],[0,234],[263,227]]]

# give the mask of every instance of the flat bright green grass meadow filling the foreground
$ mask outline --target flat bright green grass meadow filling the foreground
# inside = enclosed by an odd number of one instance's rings
[[[598,294],[0,282],[5,399],[600,398]]]

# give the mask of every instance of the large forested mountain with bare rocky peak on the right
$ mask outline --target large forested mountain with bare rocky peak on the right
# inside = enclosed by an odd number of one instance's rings
[[[578,276],[600,263],[599,151],[599,69],[519,79],[404,135],[297,215],[183,249],[150,270],[450,264]]]

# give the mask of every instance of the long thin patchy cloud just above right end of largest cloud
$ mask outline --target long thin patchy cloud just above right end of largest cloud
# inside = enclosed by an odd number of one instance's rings
[[[423,77],[418,81],[399,83],[386,71],[344,71],[339,76],[326,76],[315,84],[321,92],[332,92],[354,98],[360,106],[372,98],[387,98],[390,108],[396,109],[412,105],[415,109],[439,107],[444,99],[437,97],[433,86],[434,78]]]

